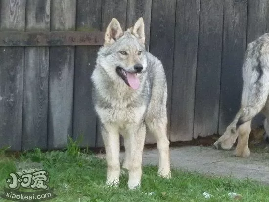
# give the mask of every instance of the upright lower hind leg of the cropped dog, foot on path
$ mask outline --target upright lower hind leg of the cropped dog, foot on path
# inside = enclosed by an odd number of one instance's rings
[[[248,138],[251,131],[251,120],[243,123],[238,128],[238,143],[235,149],[235,156],[249,157]]]

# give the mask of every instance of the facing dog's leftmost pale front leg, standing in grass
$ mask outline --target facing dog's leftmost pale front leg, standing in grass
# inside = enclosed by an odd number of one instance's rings
[[[119,163],[119,133],[113,125],[103,125],[102,136],[106,148],[107,185],[118,185],[120,175]]]

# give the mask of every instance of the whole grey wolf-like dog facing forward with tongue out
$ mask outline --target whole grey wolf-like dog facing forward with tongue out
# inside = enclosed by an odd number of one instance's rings
[[[120,176],[119,135],[123,136],[128,187],[140,186],[146,128],[155,136],[158,174],[170,178],[167,138],[167,84],[162,63],[145,50],[143,18],[122,31],[113,18],[105,33],[92,73],[93,102],[106,149],[107,185]]]

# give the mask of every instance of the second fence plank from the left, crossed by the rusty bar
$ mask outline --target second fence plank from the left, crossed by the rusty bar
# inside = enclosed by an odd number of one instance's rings
[[[25,30],[49,30],[50,0],[26,2]],[[48,47],[26,47],[22,149],[47,149]]]

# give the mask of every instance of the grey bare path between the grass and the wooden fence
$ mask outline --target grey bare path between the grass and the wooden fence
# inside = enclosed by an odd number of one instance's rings
[[[174,168],[210,175],[251,178],[269,184],[269,153],[252,152],[248,158],[233,156],[233,151],[214,150],[212,147],[185,146],[170,149]],[[121,153],[123,158],[123,153]],[[144,165],[157,164],[157,150],[145,149]]]

